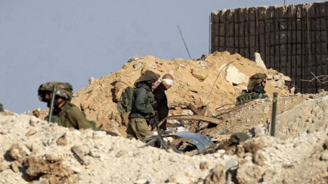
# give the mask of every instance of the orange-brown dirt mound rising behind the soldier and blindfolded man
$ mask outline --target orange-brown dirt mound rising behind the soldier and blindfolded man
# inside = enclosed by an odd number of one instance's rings
[[[99,79],[90,78],[88,86],[77,90],[72,101],[86,112],[88,118],[95,120],[98,127],[110,124],[110,120],[121,122],[116,110],[120,94],[127,86],[133,86],[146,70],[161,76],[166,73],[174,76],[174,86],[167,91],[169,106],[187,102],[196,106],[208,105],[208,110],[213,112],[224,104],[234,104],[241,89],[247,89],[248,78],[259,72],[268,74],[265,90],[269,96],[273,92],[282,96],[290,94],[285,86],[290,77],[263,69],[239,54],[215,52],[193,60],[165,60],[150,55],[134,57],[117,72]],[[175,108],[170,114],[182,114],[182,109]],[[124,136],[126,128],[118,126]]]

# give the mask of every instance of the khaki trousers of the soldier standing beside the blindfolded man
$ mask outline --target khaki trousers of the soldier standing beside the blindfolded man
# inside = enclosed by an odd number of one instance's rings
[[[151,134],[151,129],[147,125],[146,119],[143,118],[130,118],[127,130],[127,138],[133,137],[145,142],[145,137]]]

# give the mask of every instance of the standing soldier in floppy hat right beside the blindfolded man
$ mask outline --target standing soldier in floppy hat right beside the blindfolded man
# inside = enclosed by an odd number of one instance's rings
[[[134,101],[127,129],[127,138],[129,139],[134,137],[145,141],[145,137],[151,133],[147,120],[155,115],[152,107],[152,103],[155,101],[152,88],[158,78],[157,73],[147,70],[134,83],[136,88],[134,89]]]

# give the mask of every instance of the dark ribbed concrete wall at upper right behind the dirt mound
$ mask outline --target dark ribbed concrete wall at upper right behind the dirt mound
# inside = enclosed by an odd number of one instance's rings
[[[251,7],[211,13],[211,52],[229,51],[291,76],[302,93],[328,90],[328,83],[301,81],[328,75],[328,2]]]

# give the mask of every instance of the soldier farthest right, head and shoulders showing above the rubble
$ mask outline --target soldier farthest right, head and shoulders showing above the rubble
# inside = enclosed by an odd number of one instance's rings
[[[252,92],[252,99],[268,97],[264,91],[267,84],[267,75],[265,73],[257,73],[250,77],[248,90]]]

